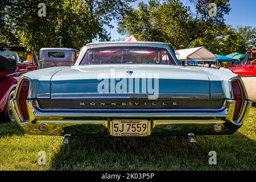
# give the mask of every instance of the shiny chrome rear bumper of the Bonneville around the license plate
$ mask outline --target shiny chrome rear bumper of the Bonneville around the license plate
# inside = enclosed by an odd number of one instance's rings
[[[30,119],[22,121],[22,114],[15,100],[11,101],[16,121],[28,133],[34,135],[112,135],[113,119],[148,119],[149,135],[229,135],[236,132],[245,121],[252,102],[246,100],[240,120],[233,121],[236,101],[225,100],[218,110],[42,110],[34,100],[27,101]],[[222,125],[222,131],[214,126]],[[45,126],[46,131],[40,131]]]

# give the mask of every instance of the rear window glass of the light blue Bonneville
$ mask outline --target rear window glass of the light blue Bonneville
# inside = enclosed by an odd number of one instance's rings
[[[105,47],[89,49],[80,65],[168,64],[176,65],[167,49],[148,47]]]

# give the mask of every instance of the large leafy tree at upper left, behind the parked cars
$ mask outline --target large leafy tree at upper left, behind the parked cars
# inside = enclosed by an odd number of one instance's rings
[[[0,41],[39,51],[42,47],[81,48],[92,39],[109,40],[104,26],[118,20],[134,0],[44,0],[46,17],[38,16],[40,0],[0,3]]]

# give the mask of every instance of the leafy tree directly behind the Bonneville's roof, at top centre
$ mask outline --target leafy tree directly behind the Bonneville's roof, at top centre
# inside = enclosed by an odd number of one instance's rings
[[[166,42],[175,48],[185,48],[193,36],[192,27],[192,16],[181,2],[150,0],[148,4],[139,3],[138,10],[129,9],[117,30],[122,35],[133,34],[139,40]]]

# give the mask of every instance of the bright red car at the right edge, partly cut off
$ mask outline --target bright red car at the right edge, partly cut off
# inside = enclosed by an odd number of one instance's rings
[[[256,76],[256,49],[251,49],[246,53],[241,66],[231,67],[230,69],[241,77]]]

